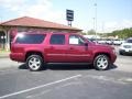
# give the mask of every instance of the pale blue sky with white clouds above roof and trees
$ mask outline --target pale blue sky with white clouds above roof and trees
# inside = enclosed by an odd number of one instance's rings
[[[0,0],[0,22],[32,16],[67,25],[66,9],[74,10],[73,26],[84,32],[132,28],[132,0]]]

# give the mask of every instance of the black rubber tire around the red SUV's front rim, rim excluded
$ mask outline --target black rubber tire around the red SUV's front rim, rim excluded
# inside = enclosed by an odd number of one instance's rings
[[[98,67],[98,65],[97,65],[97,61],[98,61],[98,58],[100,58],[100,57],[106,57],[107,58],[107,61],[108,61],[108,66],[106,67],[106,68],[99,68]],[[109,57],[107,56],[107,55],[103,55],[103,54],[100,54],[100,55],[97,55],[96,57],[95,57],[95,59],[94,59],[94,67],[97,69],[97,70],[107,70],[107,69],[109,69],[109,66],[110,66],[110,59],[109,59]]]

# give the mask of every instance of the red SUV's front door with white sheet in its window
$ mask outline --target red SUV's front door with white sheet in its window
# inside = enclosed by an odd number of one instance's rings
[[[68,38],[67,62],[88,63],[90,59],[90,51],[85,38],[76,34],[70,34]]]

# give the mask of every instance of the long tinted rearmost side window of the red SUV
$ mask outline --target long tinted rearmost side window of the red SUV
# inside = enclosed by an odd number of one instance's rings
[[[45,34],[20,34],[18,35],[15,43],[41,44],[44,41],[45,36]]]

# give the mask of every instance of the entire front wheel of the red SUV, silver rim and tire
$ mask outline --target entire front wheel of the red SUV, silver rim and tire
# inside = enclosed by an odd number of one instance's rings
[[[101,54],[95,57],[94,67],[97,70],[107,70],[109,66],[110,66],[110,61],[107,55]]]

